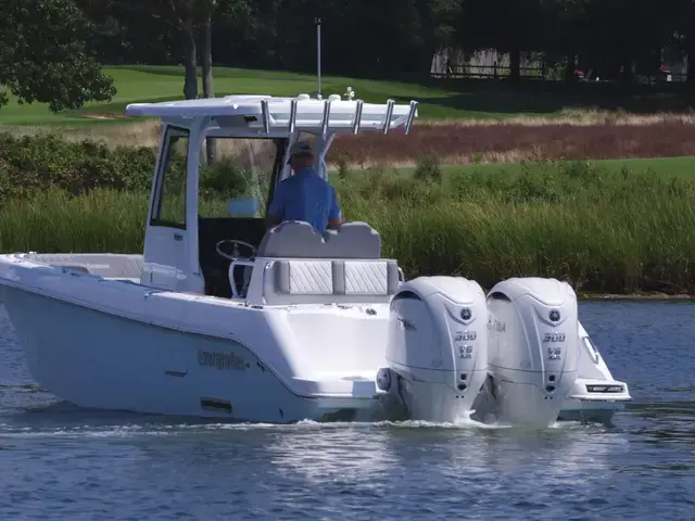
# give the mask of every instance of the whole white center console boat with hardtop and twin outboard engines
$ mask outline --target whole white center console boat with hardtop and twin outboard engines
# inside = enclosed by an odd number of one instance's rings
[[[162,122],[142,254],[0,256],[0,297],[29,370],[60,398],[239,421],[450,422],[475,411],[536,427],[609,421],[630,399],[567,283],[510,279],[485,295],[463,278],[404,280],[366,223],[324,236],[301,221],[266,230],[301,135],[314,137],[327,177],[336,135],[407,134],[416,102],[230,96],[127,114]],[[266,192],[214,207],[201,185],[208,137],[255,150],[250,168],[266,174]]]

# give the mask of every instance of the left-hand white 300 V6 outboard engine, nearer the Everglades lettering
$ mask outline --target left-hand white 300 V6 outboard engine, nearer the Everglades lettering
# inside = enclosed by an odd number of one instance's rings
[[[418,277],[391,301],[388,368],[377,384],[413,420],[465,417],[488,377],[488,309],[482,288],[458,277]]]

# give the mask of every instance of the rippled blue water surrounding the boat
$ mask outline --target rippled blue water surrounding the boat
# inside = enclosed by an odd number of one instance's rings
[[[0,308],[0,519],[695,519],[695,306],[582,303],[615,427],[195,423],[37,389]]]

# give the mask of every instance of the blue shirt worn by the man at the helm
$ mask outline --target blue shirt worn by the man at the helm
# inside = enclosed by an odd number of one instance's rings
[[[321,234],[326,233],[329,219],[342,216],[336,190],[312,167],[278,183],[268,214],[282,220],[304,220]]]

